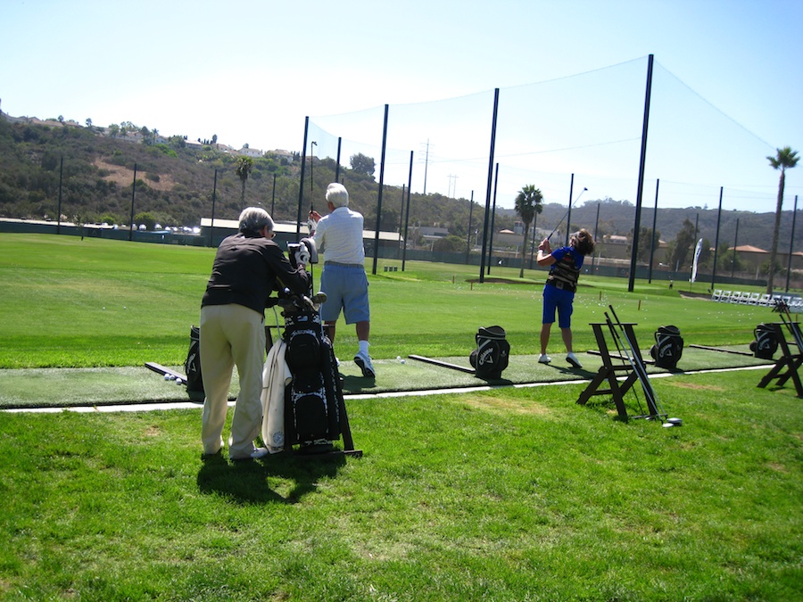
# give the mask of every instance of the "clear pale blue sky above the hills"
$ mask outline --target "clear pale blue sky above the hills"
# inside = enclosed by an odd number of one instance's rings
[[[716,207],[723,186],[724,209],[773,211],[779,173],[765,157],[787,145],[803,151],[800,0],[2,0],[0,11],[0,108],[11,115],[132,121],[191,139],[217,134],[236,148],[301,151],[305,116],[336,129],[343,121],[327,116],[374,119],[389,104],[410,135],[394,139],[400,151],[420,160],[430,140],[427,192],[473,190],[475,200],[486,192],[501,88],[502,206],[531,183],[547,201],[567,202],[570,174],[575,198],[589,188],[583,202],[635,201],[649,54],[645,205],[660,179],[660,206]],[[463,120],[462,101],[439,102],[465,96],[480,108]],[[461,156],[454,128],[418,128],[427,107],[448,113],[477,151],[463,146]],[[527,123],[527,111],[542,120]],[[526,141],[515,140],[511,120]],[[326,131],[344,136],[335,129]],[[358,131],[345,136],[363,142]],[[417,161],[414,190],[423,168]],[[388,176],[407,179],[401,169]],[[795,194],[803,164],[788,172],[785,208]]]

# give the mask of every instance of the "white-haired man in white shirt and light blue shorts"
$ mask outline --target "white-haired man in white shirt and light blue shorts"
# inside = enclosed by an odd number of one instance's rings
[[[374,378],[374,365],[368,355],[368,336],[371,329],[368,304],[368,276],[365,274],[365,249],[362,246],[363,218],[349,209],[349,193],[342,184],[327,186],[329,215],[321,217],[310,211],[312,238],[318,251],[324,255],[324,269],[320,276],[320,291],[327,293],[321,306],[320,317],[327,335],[335,343],[335,324],[343,310],[346,324],[357,329],[360,348],[354,363],[362,375]]]

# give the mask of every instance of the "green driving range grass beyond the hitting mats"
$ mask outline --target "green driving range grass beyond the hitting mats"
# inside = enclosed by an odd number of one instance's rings
[[[183,363],[212,259],[211,249],[195,247],[0,234],[0,368]],[[468,357],[477,328],[493,325],[507,331],[511,354],[536,353],[546,272],[526,270],[524,280],[518,273],[494,267],[489,278],[510,282],[478,284],[469,282],[478,268],[407,262],[405,272],[369,276],[371,355]],[[318,276],[316,267],[316,282]],[[706,287],[693,285],[699,292]],[[581,276],[575,348],[596,348],[588,324],[604,321],[608,304],[623,321],[637,323],[646,348],[667,324],[680,327],[687,343],[747,344],[757,324],[773,318],[766,308],[682,299],[677,288],[637,282],[627,293],[624,279]],[[276,317],[269,312],[267,320]],[[559,353],[554,330],[551,350]],[[353,328],[341,319],[335,351],[349,357],[356,346]]]

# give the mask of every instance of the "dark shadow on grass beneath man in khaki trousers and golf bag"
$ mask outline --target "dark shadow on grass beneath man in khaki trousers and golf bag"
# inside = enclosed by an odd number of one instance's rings
[[[232,502],[248,504],[295,504],[304,495],[317,491],[323,477],[333,477],[345,465],[342,455],[300,457],[282,452],[260,461],[229,462],[222,454],[204,456],[196,482],[198,491],[219,494]],[[279,493],[269,479],[285,482]]]

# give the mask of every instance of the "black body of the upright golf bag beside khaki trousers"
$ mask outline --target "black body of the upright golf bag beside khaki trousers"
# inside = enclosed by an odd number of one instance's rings
[[[311,308],[287,308],[286,362],[293,380],[285,389],[286,444],[340,438],[343,390],[335,351],[323,334],[320,314]]]

